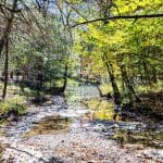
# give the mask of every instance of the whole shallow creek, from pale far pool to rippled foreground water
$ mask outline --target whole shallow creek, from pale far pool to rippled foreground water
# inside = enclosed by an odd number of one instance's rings
[[[151,124],[148,128],[143,122],[122,121],[122,114],[114,112],[114,103],[100,99],[96,86],[68,85],[66,99],[58,96],[50,100],[52,104],[45,103],[20,122],[2,126],[1,133],[12,142],[37,135],[57,135],[85,128],[105,138],[162,148],[162,125]]]

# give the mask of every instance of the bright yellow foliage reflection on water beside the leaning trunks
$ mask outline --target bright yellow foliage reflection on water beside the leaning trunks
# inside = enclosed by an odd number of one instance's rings
[[[93,118],[121,121],[121,111],[114,110],[112,101],[105,99],[90,99],[83,102],[89,110],[93,111]]]

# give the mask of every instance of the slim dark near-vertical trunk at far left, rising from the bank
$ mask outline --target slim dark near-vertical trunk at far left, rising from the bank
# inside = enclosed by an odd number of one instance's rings
[[[2,90],[2,99],[4,99],[7,95],[8,76],[9,76],[8,70],[9,70],[9,41],[8,38],[5,38],[4,86]]]

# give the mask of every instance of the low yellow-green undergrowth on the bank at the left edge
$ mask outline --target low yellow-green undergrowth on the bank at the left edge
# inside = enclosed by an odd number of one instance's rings
[[[24,97],[14,97],[14,98],[8,98],[7,100],[3,100],[0,102],[0,113],[5,114],[10,110],[16,110],[18,112],[18,115],[22,115],[25,113],[26,110],[26,101]]]

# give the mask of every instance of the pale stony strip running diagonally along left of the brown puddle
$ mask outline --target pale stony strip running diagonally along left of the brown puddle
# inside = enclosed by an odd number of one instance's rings
[[[17,122],[8,122],[7,124],[1,125],[1,133],[9,137],[9,139],[18,139],[22,134],[29,130],[36,122],[66,109],[63,97],[55,96],[51,100],[52,104],[45,104],[47,106],[32,105],[28,108],[26,115],[21,116]]]

